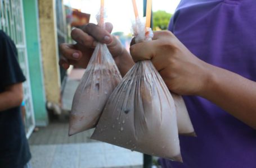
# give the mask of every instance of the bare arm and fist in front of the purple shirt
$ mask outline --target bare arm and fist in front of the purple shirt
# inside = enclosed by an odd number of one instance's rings
[[[203,62],[169,31],[154,32],[152,41],[130,51],[136,61],[151,59],[169,90],[202,96],[256,129],[255,82]]]

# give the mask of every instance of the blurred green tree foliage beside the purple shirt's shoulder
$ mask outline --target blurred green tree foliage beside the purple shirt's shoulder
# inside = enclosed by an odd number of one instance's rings
[[[165,11],[153,12],[153,30],[167,30],[172,14]]]

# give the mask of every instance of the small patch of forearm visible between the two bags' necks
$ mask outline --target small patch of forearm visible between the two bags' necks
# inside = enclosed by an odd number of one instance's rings
[[[133,59],[132,59],[131,55],[127,52],[126,49],[123,49],[122,54],[120,54],[118,57],[115,57],[114,59],[115,59],[116,66],[118,66],[118,69],[119,69],[122,77],[134,65]]]

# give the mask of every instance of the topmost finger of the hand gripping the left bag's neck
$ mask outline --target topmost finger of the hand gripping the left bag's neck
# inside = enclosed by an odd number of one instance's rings
[[[106,43],[109,44],[112,42],[113,38],[110,35],[110,32],[113,29],[113,26],[110,23],[106,24],[106,29],[102,29],[101,27],[95,25],[95,24],[87,24],[83,27],[83,31],[86,32],[88,35],[95,38],[100,43]],[[110,32],[109,32],[110,31]]]

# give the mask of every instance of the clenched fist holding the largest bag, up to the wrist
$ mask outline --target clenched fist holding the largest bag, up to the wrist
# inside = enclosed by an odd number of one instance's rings
[[[151,59],[169,90],[199,95],[208,81],[207,64],[192,54],[170,31],[155,31],[152,41],[130,48],[135,62]]]

